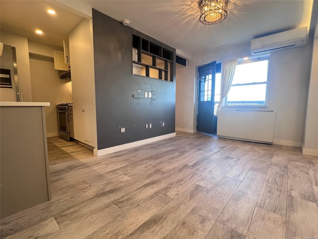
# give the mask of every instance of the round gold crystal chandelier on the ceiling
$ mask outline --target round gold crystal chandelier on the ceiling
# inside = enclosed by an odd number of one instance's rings
[[[228,0],[199,0],[200,22],[205,25],[217,24],[227,15]]]

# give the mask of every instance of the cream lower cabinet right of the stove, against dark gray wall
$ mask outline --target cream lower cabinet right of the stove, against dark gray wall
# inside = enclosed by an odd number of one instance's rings
[[[92,108],[74,108],[74,138],[94,147],[94,113]]]

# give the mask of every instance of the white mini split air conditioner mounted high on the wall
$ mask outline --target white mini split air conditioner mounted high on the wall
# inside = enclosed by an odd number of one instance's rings
[[[251,54],[259,55],[288,48],[305,46],[307,26],[264,36],[251,41]]]

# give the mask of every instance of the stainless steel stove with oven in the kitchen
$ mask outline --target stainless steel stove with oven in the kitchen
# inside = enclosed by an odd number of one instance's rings
[[[74,139],[73,104],[62,103],[56,106],[58,112],[59,136],[68,141]]]

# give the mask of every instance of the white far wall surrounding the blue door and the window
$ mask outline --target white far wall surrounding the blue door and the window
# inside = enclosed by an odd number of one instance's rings
[[[310,80],[313,37],[309,37],[305,47],[277,51],[271,54],[268,75],[267,108],[225,107],[223,110],[275,111],[274,143],[302,145],[304,135],[307,92]],[[176,82],[176,128],[196,131],[196,72],[197,66],[212,61],[250,56],[250,42],[230,46],[211,52],[197,54],[187,61],[188,66],[177,68]],[[193,91],[190,100],[187,92]],[[187,109],[186,109],[187,108]],[[183,124],[182,119],[190,120]]]

